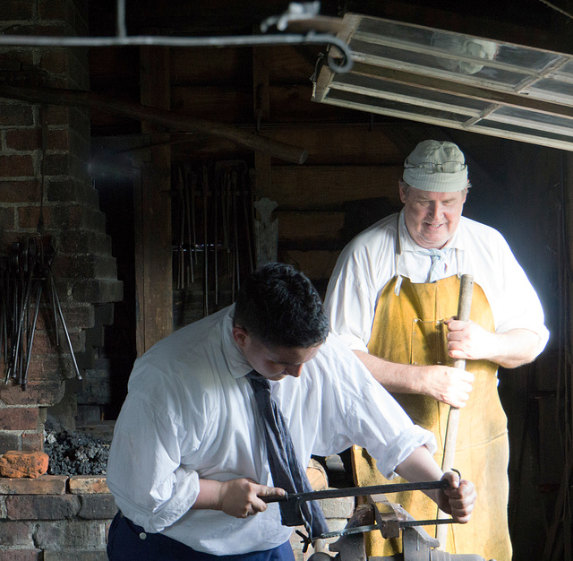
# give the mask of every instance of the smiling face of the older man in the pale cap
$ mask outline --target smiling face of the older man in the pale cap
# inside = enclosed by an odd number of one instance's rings
[[[400,183],[406,228],[418,246],[440,249],[448,243],[458,228],[466,194],[466,189],[437,193]]]

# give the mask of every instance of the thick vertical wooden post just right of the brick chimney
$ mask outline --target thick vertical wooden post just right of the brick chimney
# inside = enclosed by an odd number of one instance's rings
[[[141,103],[169,109],[169,49],[141,47]],[[169,134],[141,123],[151,144],[168,142]],[[134,194],[137,355],[173,331],[171,271],[171,148],[150,149],[142,162],[139,189]]]

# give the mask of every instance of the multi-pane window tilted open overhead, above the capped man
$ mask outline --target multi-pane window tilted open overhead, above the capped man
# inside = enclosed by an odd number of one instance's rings
[[[314,101],[573,151],[573,56],[356,13],[338,38]]]

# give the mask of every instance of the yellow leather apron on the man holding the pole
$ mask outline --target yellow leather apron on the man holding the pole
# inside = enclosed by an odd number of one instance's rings
[[[452,366],[453,360],[447,354],[448,328],[443,320],[458,313],[458,277],[417,284],[406,278],[400,280],[398,295],[396,278],[382,289],[368,345],[370,353],[403,364]],[[476,284],[470,319],[493,331],[492,310],[483,289]],[[475,382],[466,407],[460,410],[454,467],[475,484],[477,501],[470,522],[449,525],[446,550],[477,554],[486,560],[510,561],[509,441],[507,419],[497,391],[497,366],[484,360],[467,361],[466,370],[475,374]],[[438,451],[434,458],[441,466],[449,406],[414,393],[393,395],[416,424],[436,436]],[[352,457],[356,485],[388,482],[365,450],[353,447]],[[403,505],[417,520],[436,518],[435,503],[422,491],[392,494],[388,498]],[[425,530],[434,535],[435,526],[426,526]],[[399,539],[382,539],[380,532],[366,534],[365,540],[368,556],[401,552]]]

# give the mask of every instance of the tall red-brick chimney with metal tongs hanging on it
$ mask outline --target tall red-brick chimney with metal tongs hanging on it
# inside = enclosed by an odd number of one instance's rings
[[[82,0],[4,0],[0,25],[17,34],[83,35],[86,13]],[[2,47],[0,84],[89,89],[87,49]],[[0,255],[13,242],[38,234],[58,246],[56,289],[84,377],[103,340],[102,318],[111,320],[110,303],[122,298],[123,289],[89,160],[88,110],[0,98]],[[85,380],[75,378],[62,332],[56,347],[48,318],[46,304],[38,318],[27,389],[4,384],[2,373],[0,454],[41,450],[47,408],[73,425],[75,395]]]

